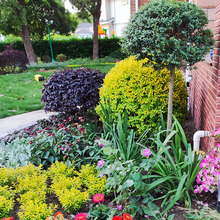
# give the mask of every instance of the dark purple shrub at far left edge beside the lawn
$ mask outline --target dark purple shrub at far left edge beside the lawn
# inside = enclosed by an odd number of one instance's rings
[[[8,45],[0,55],[0,75],[21,73],[27,69],[28,63],[28,58],[22,51],[14,50],[12,45]]]

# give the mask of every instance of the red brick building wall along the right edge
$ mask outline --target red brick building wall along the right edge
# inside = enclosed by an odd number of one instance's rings
[[[191,72],[191,113],[198,130],[214,131],[220,128],[220,1],[195,0],[195,3],[207,13],[216,45],[212,66],[200,62],[196,64],[198,69]],[[214,144],[213,138],[202,138],[201,149],[208,150]]]

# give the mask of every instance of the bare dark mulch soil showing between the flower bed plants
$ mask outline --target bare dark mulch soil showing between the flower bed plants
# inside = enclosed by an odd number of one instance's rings
[[[50,125],[49,125],[50,126]],[[31,127],[29,127],[30,130],[35,130],[37,128],[36,125],[33,125]],[[192,120],[192,116],[189,115],[187,118],[187,121],[185,123],[185,125],[183,126],[183,129],[185,131],[186,137],[188,139],[188,142],[190,142],[191,144],[193,144],[193,134],[197,131],[195,128],[195,124]],[[20,130],[19,132],[15,132],[12,135],[8,135],[4,138],[2,138],[2,140],[4,142],[10,142],[13,139],[15,139],[16,137],[20,136],[22,133],[25,132],[25,129]],[[196,197],[197,196],[197,197]],[[208,204],[208,207],[211,209],[215,209],[216,210],[216,206],[217,206],[217,192],[214,193],[201,193],[198,195],[194,195],[193,193],[191,193],[191,199],[192,199],[192,209],[197,209],[197,210],[201,210],[201,208],[203,207],[203,205],[201,205],[201,203],[199,204],[198,201],[202,202],[202,204]],[[106,198],[104,205],[111,207],[115,207],[116,204],[113,204],[112,202],[112,198]],[[55,194],[47,194],[47,200],[46,202],[48,204],[56,204],[58,205],[58,211],[62,212],[65,216],[65,218],[68,218],[69,220],[73,220],[75,219],[75,215],[79,212],[85,212],[88,213],[89,211],[89,207],[91,205],[94,205],[94,202],[92,201],[92,198],[89,199],[88,203],[82,207],[81,210],[79,210],[77,213],[67,213],[61,206],[58,198],[56,197]],[[157,202],[157,205],[160,204],[160,201]],[[14,217],[15,220],[19,220],[17,213],[21,211],[20,210],[20,204],[18,202],[15,203],[14,209],[12,211],[12,215]],[[169,215],[170,214],[175,214],[174,220],[184,220],[186,219],[183,214],[187,213],[187,209],[185,207],[184,203],[181,202],[177,202],[175,204],[175,206],[169,211]],[[136,218],[134,220],[140,220],[140,218]]]

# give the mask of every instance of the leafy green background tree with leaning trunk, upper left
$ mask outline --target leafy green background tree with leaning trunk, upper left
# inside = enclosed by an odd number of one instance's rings
[[[76,19],[66,11],[60,0],[1,0],[0,31],[21,36],[30,62],[37,62],[30,35],[42,39],[47,34],[46,20],[53,20],[51,30],[67,34],[75,31]]]

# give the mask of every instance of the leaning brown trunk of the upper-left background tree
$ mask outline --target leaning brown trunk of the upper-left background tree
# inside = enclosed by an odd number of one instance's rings
[[[24,48],[25,48],[29,62],[30,63],[37,63],[37,57],[36,57],[34,50],[33,50],[33,47],[32,47],[32,42],[30,39],[29,31],[28,31],[28,26],[26,26],[26,25],[22,26],[21,37],[24,42]]]

